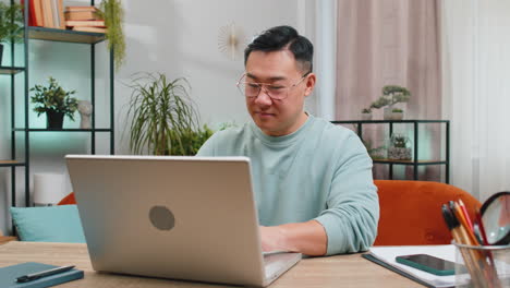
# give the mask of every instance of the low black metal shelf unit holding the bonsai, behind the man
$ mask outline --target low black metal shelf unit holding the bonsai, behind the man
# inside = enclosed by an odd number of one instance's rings
[[[396,124],[413,124],[413,159],[412,160],[392,160],[392,159],[374,159],[374,164],[389,165],[389,179],[393,179],[393,165],[413,166],[413,180],[418,180],[418,166],[425,165],[444,165],[445,166],[445,182],[450,182],[450,121],[449,120],[347,120],[331,121],[333,124],[355,124],[356,133],[363,140],[364,124],[387,124],[389,125],[389,135],[393,133]],[[418,159],[418,132],[420,124],[439,123],[445,124],[445,142],[446,153],[445,159],[439,160],[420,160]]]

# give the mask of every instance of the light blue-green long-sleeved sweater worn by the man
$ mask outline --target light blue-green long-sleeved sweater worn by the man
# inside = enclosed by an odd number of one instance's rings
[[[269,136],[253,122],[215,133],[198,156],[247,156],[260,225],[315,219],[327,254],[367,250],[379,203],[372,159],[357,135],[309,116],[292,134]]]

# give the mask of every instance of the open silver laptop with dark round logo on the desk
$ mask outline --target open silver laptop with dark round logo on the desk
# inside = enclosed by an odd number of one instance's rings
[[[265,287],[301,260],[263,254],[246,157],[65,159],[95,271]]]

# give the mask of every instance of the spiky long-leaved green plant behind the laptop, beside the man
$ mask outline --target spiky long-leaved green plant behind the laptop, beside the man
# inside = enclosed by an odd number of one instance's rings
[[[186,79],[169,80],[162,73],[143,73],[129,86],[133,93],[126,117],[131,121],[133,153],[195,155],[212,135],[207,125],[198,125]]]

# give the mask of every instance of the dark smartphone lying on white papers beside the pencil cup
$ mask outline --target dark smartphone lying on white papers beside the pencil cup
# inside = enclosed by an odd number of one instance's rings
[[[397,263],[428,272],[434,275],[447,276],[456,274],[456,263],[427,254],[397,256],[396,261]]]

